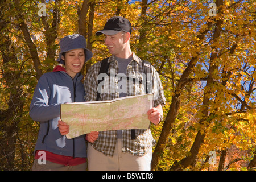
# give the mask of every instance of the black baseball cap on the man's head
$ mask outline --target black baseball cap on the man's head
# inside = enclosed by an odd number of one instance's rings
[[[126,18],[121,16],[114,16],[110,18],[108,22],[106,22],[103,30],[96,32],[96,35],[115,35],[120,31],[130,32],[131,34],[131,23]]]

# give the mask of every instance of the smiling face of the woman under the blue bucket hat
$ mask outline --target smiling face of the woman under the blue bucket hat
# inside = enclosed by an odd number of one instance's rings
[[[61,56],[65,61],[65,69],[69,76],[74,78],[76,73],[79,73],[84,66],[85,53],[84,49],[74,49],[65,53],[65,57]]]

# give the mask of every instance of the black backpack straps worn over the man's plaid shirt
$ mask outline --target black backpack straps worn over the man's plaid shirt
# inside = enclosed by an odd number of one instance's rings
[[[101,61],[101,67],[100,67],[100,71],[98,72],[98,75],[100,75],[100,73],[106,73],[108,76],[110,76],[110,74],[108,73],[110,62],[108,62],[108,60],[109,60],[109,57]],[[144,60],[142,60],[142,64],[143,64],[143,73],[146,75],[146,93],[150,93],[151,92],[151,78],[148,78],[147,74],[151,73],[151,64],[150,64],[150,62],[144,61]],[[127,79],[133,79],[133,82],[135,82],[135,78],[127,77]],[[104,80],[104,78],[102,80],[98,80],[98,84],[100,84],[100,82],[103,80]],[[100,99],[100,93],[97,92],[96,101],[98,101],[99,99]],[[131,139],[134,140],[135,138],[136,138],[135,130],[133,129],[133,130],[131,130]]]

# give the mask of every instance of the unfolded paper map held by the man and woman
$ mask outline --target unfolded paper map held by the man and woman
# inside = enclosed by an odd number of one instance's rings
[[[110,101],[61,104],[61,120],[69,125],[67,138],[90,131],[148,129],[147,111],[153,107],[154,94],[121,97]]]

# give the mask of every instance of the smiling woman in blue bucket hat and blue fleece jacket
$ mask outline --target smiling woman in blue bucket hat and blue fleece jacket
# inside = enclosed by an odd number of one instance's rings
[[[60,134],[60,104],[84,102],[80,71],[92,57],[84,36],[75,34],[60,40],[58,65],[42,75],[30,105],[30,117],[40,122],[32,170],[86,170],[85,136],[67,139]]]

